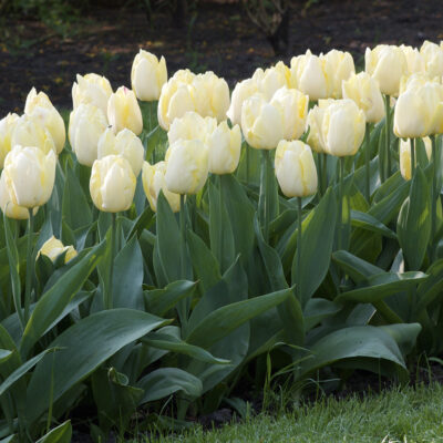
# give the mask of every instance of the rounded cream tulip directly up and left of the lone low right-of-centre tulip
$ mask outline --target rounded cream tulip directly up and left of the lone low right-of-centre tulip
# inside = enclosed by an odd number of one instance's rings
[[[246,141],[256,150],[274,150],[285,138],[285,121],[280,107],[254,94],[241,109],[241,130]]]

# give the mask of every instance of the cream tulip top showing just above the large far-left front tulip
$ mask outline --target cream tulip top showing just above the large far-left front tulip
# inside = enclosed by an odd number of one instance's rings
[[[23,114],[16,123],[11,136],[11,146],[35,146],[43,153],[56,153],[51,133],[43,126],[40,119]]]

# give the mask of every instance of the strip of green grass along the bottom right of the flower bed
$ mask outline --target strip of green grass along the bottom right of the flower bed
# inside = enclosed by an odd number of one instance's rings
[[[319,401],[292,413],[260,414],[241,424],[150,442],[443,442],[443,387],[396,388],[364,400],[350,398]],[[146,443],[138,440],[137,443]],[[135,443],[135,441],[131,442]]]

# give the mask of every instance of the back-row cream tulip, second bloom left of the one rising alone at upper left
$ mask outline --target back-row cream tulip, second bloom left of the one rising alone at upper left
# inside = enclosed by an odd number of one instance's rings
[[[76,74],[76,83],[72,85],[73,109],[81,104],[92,104],[106,115],[111,94],[111,83],[105,76],[94,73],[84,76]]]

